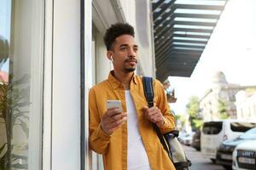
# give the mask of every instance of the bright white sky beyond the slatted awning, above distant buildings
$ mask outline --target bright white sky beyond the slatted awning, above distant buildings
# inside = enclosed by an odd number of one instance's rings
[[[191,77],[169,77],[177,97],[171,105],[176,114],[186,113],[190,96],[201,98],[211,88],[217,71],[230,83],[256,85],[255,8],[255,0],[230,0]]]

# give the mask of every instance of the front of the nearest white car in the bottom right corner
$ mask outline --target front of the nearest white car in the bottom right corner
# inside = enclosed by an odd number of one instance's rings
[[[233,151],[232,161],[234,170],[256,169],[256,140],[238,144]]]

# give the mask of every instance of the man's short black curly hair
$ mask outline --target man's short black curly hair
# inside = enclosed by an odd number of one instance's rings
[[[134,28],[127,23],[116,23],[111,25],[105,33],[104,42],[107,50],[110,50],[115,42],[115,38],[122,35],[131,35],[134,37]]]

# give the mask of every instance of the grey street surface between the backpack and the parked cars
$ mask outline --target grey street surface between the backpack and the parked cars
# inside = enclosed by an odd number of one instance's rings
[[[183,148],[189,160],[192,162],[192,166],[189,167],[189,170],[224,170],[224,167],[214,164],[211,160],[201,156],[200,151],[186,145],[183,145]]]

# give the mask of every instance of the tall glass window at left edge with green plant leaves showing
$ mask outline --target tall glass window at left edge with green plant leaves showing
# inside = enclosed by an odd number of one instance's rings
[[[1,170],[41,169],[42,7],[32,0],[0,0]]]

